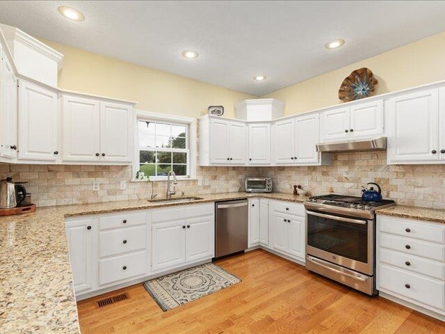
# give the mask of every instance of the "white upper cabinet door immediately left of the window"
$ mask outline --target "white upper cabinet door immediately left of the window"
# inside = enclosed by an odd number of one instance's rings
[[[100,161],[131,163],[134,121],[133,107],[100,102]]]

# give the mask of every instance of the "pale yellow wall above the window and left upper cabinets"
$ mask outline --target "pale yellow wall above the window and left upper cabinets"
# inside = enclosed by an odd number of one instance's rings
[[[224,116],[234,117],[236,102],[254,98],[49,40],[42,42],[65,56],[59,88],[136,101],[139,110],[197,118],[207,113],[208,106],[223,105]]]

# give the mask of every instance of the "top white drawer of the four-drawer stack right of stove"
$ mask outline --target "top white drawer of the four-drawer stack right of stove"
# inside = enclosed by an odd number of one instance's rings
[[[380,231],[445,244],[445,227],[412,219],[380,216]]]

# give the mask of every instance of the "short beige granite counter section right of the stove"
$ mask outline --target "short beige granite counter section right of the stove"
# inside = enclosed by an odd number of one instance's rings
[[[394,207],[385,207],[383,209],[375,210],[375,213],[445,224],[445,210],[442,209],[426,209],[423,207],[405,207],[404,205],[396,205]]]

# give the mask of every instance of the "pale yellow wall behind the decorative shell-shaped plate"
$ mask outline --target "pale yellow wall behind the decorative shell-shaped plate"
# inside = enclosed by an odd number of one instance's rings
[[[302,81],[262,97],[286,102],[286,115],[339,104],[341,82],[368,67],[379,81],[378,94],[445,79],[445,32],[387,51],[364,61]]]

